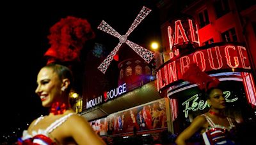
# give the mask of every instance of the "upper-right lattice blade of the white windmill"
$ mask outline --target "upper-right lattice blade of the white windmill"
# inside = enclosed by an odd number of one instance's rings
[[[140,24],[142,20],[144,20],[145,17],[147,17],[148,13],[150,13],[150,9],[143,6],[143,8],[140,10],[140,13],[135,18],[134,22],[132,23],[129,30],[126,32],[125,36],[129,36],[131,32]]]

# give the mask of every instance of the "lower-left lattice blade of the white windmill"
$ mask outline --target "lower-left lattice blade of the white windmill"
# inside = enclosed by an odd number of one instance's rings
[[[105,72],[107,71],[109,64],[112,62],[113,57],[116,55],[116,53],[118,52],[120,46],[122,45],[122,43],[118,43],[118,45],[116,45],[116,47],[114,48],[114,50],[112,50],[111,53],[109,53],[108,57],[106,59],[103,60],[103,62],[101,62],[100,66],[98,67],[98,69],[105,74]]]

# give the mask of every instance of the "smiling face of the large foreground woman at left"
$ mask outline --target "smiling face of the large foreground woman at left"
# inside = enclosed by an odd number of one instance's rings
[[[42,106],[51,107],[53,101],[57,101],[61,95],[61,81],[51,68],[42,68],[37,76],[37,88],[35,92],[42,100]]]

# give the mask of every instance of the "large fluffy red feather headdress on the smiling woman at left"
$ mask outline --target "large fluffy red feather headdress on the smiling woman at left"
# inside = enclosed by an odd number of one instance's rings
[[[45,52],[48,62],[71,62],[79,60],[79,54],[84,43],[95,38],[91,25],[82,18],[61,18],[60,22],[54,24],[48,36],[51,48]]]

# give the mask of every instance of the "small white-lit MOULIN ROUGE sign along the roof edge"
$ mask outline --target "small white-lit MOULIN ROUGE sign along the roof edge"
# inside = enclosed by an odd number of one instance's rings
[[[108,102],[108,100],[113,99],[114,97],[118,97],[120,95],[122,95],[122,93],[127,92],[127,88],[126,88],[126,83],[124,83],[123,85],[118,86],[115,89],[110,90],[109,92],[105,92],[104,93],[104,102]],[[102,95],[100,95],[97,98],[94,98],[92,100],[89,100],[86,102],[86,109],[96,106],[98,104],[102,103]]]

